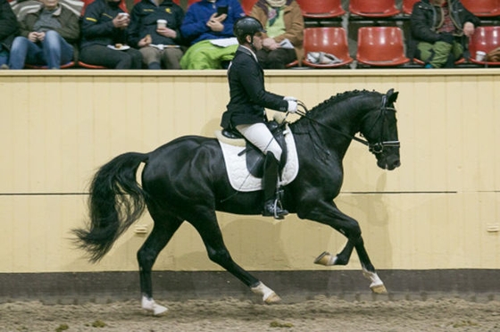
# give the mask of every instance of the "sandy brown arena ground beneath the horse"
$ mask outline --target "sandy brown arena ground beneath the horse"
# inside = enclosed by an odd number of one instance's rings
[[[315,297],[265,305],[233,298],[166,302],[153,317],[138,301],[0,304],[0,331],[500,331],[500,302],[461,298],[345,301]]]

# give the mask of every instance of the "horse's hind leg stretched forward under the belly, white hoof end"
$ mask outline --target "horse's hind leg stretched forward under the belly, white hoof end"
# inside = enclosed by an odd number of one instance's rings
[[[204,212],[202,214],[206,216],[207,213],[210,214],[209,218],[199,218],[191,223],[202,237],[210,260],[228,270],[229,273],[241,280],[246,286],[249,286],[252,292],[262,295],[262,300],[265,303],[278,303],[281,299],[271,288],[265,286],[262,281],[254,278],[254,276],[233,261],[228,248],[224,245],[221,228],[219,228],[219,224],[217,223],[215,212]]]

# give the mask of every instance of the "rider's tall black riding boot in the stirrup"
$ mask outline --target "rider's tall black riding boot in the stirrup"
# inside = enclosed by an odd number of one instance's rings
[[[264,175],[262,177],[264,188],[264,209],[262,215],[283,219],[288,214],[287,210],[281,208],[278,193],[278,161],[274,154],[268,152],[264,160]]]

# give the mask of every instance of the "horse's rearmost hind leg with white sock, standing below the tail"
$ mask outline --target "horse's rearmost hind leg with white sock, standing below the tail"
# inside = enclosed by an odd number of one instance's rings
[[[147,237],[144,245],[137,252],[142,294],[141,305],[143,309],[152,311],[154,315],[160,315],[168,309],[155,303],[153,300],[151,271],[158,254],[169,243],[171,237],[179,229],[184,220],[168,216],[162,212],[155,212],[151,206],[149,207],[149,212],[154,220],[154,228],[149,237]]]

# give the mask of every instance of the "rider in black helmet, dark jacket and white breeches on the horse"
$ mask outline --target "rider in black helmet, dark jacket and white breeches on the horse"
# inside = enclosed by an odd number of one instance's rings
[[[262,67],[255,52],[262,48],[260,21],[246,16],[237,20],[233,28],[239,46],[229,64],[229,95],[227,111],[222,114],[221,127],[237,129],[250,143],[265,155],[263,195],[263,216],[283,219],[287,210],[279,203],[279,160],[281,147],[265,125],[265,108],[280,112],[296,112],[296,98],[275,95],[264,87]]]

